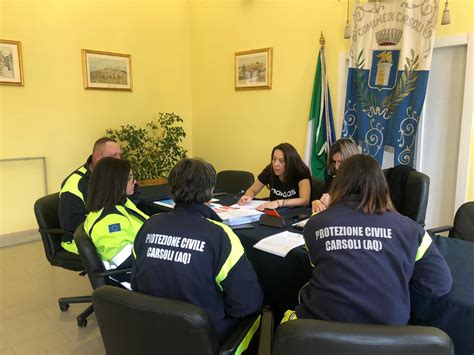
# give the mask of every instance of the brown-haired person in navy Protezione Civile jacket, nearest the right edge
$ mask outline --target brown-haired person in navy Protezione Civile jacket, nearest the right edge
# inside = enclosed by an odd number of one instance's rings
[[[451,290],[446,261],[420,225],[394,210],[374,158],[344,160],[330,193],[329,208],[305,226],[314,269],[298,318],[403,325],[410,287],[434,297]]]

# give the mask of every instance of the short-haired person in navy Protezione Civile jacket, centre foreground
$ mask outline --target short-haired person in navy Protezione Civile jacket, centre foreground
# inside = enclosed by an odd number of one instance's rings
[[[257,312],[263,293],[232,229],[209,207],[216,171],[183,159],[168,177],[173,212],[152,216],[134,243],[132,289],[207,311],[221,340]]]

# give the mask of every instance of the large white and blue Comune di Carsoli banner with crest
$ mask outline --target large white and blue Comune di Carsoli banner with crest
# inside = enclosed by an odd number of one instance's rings
[[[382,164],[413,166],[438,0],[355,4],[342,136]]]

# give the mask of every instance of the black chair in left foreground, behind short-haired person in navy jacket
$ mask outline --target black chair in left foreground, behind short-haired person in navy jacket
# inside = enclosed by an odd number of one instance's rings
[[[100,333],[109,355],[234,354],[260,322],[244,318],[219,346],[207,313],[190,303],[103,286],[92,293]]]

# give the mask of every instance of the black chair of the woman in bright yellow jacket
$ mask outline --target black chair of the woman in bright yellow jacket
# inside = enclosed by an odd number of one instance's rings
[[[100,286],[112,285],[116,287],[123,287],[119,282],[115,282],[110,279],[110,276],[121,275],[126,272],[130,272],[131,269],[120,269],[120,270],[106,270],[104,263],[102,262],[97,249],[92,243],[92,240],[87,236],[84,231],[84,225],[81,224],[77,227],[74,233],[74,241],[76,242],[77,250],[82,260],[82,264],[86,270],[87,276],[91,283],[92,289],[95,290]],[[94,312],[93,305],[88,308],[88,312],[83,312],[80,317],[77,317],[77,324],[80,327],[87,325],[87,317]]]

